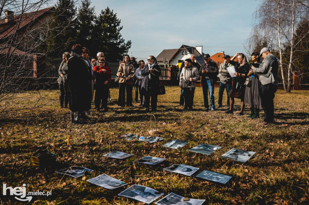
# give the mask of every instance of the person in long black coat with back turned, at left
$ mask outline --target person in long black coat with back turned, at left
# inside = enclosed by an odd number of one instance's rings
[[[83,111],[91,108],[92,93],[89,80],[92,79],[92,74],[81,54],[82,46],[75,44],[68,60],[69,107],[73,123],[79,121]]]

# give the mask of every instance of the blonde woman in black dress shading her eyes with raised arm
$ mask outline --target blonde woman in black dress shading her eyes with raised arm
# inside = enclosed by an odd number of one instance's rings
[[[243,108],[245,107],[245,90],[246,86],[244,85],[244,82],[246,81],[247,74],[249,72],[250,66],[248,64],[247,58],[242,53],[236,53],[233,58],[231,58],[231,61],[233,61],[237,56],[237,63],[235,70],[236,72],[234,75],[236,77],[232,78],[232,89],[230,92],[230,110],[226,111],[228,114],[233,114],[233,106],[234,106],[234,98],[239,98],[241,100],[240,104],[240,112],[238,115],[243,115]]]

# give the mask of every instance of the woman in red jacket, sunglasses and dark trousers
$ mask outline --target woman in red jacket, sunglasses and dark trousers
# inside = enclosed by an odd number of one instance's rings
[[[103,112],[107,112],[107,98],[108,91],[111,87],[112,73],[109,67],[105,66],[105,59],[99,58],[99,66],[93,68],[95,74],[95,109],[100,110],[100,104],[102,100],[101,108],[104,108]]]

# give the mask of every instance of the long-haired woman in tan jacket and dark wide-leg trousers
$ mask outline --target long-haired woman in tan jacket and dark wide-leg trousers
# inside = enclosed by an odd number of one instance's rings
[[[125,55],[122,59],[122,63],[120,64],[117,73],[117,76],[119,77],[118,107],[125,107],[125,90],[127,90],[127,106],[133,107],[132,84],[134,74],[134,67],[130,62],[130,56]]]

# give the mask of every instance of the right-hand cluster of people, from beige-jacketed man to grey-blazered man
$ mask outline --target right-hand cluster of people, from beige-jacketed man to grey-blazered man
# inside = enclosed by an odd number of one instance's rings
[[[261,56],[264,59],[262,63],[260,63]],[[263,48],[260,54],[253,52],[250,65],[246,56],[242,53],[236,53],[232,58],[229,55],[224,55],[223,58],[224,62],[221,63],[219,69],[217,64],[211,61],[209,54],[204,55],[204,63],[201,66],[195,62],[194,55],[184,60],[179,72],[180,105],[184,106],[184,110],[193,109],[196,81],[201,77],[205,111],[215,111],[214,84],[217,82],[219,74],[220,86],[217,108],[222,107],[222,96],[225,89],[227,94],[226,113],[233,114],[234,98],[239,98],[241,105],[238,115],[243,115],[243,108],[245,104],[248,104],[250,106],[248,117],[259,118],[260,109],[263,108],[265,112],[264,123],[272,123],[274,118],[273,98],[278,88],[277,58],[271,54],[269,48]],[[234,61],[235,58],[237,58],[237,62]],[[231,66],[235,68],[236,72],[233,75],[235,77],[231,77],[227,69]],[[208,96],[210,98],[210,109]]]

